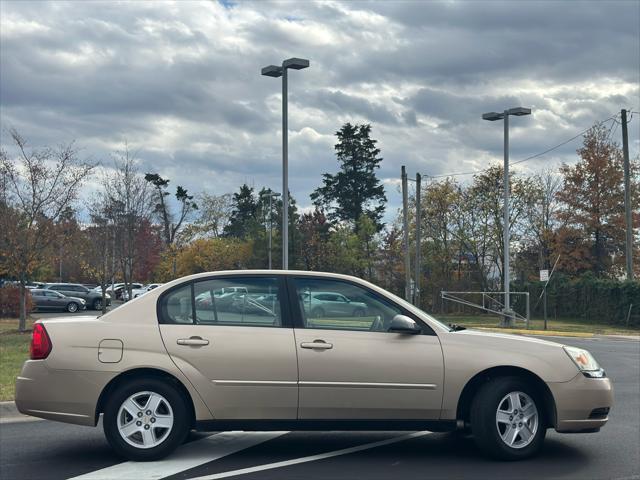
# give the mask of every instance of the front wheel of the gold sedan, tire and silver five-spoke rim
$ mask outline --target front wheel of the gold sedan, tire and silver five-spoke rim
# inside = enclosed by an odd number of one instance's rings
[[[493,457],[530,457],[540,450],[546,435],[543,404],[522,379],[493,379],[473,399],[471,430],[478,447]]]

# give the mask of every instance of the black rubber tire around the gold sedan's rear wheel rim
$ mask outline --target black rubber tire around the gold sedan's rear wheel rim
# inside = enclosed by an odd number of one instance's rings
[[[118,412],[130,396],[138,392],[153,392],[162,395],[173,412],[173,425],[169,434],[159,445],[139,448],[129,444],[118,430]],[[180,446],[191,429],[191,417],[186,399],[171,383],[160,379],[132,379],[120,385],[106,403],[103,417],[104,434],[111,448],[120,456],[136,462],[159,460]]]

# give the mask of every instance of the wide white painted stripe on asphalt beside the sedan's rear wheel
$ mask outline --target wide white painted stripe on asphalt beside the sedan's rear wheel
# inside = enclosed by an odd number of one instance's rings
[[[155,480],[231,455],[289,432],[224,432],[178,448],[166,460],[124,462],[70,480]]]

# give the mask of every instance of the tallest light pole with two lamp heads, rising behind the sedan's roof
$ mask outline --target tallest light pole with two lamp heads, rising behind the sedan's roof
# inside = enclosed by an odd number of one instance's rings
[[[269,65],[262,69],[267,77],[282,77],[282,269],[289,268],[289,140],[287,108],[287,70],[302,70],[309,66],[304,58],[289,58],[282,66]]]

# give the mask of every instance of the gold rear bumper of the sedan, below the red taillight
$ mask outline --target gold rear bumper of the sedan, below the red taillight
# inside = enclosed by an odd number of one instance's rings
[[[52,370],[46,360],[27,360],[16,379],[20,413],[77,425],[96,425],[96,405],[111,372]]]

